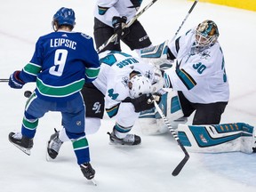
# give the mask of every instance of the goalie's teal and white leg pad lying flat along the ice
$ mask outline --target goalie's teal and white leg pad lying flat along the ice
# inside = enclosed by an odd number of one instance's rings
[[[179,124],[180,142],[190,152],[222,153],[241,151],[247,154],[255,148],[254,127],[249,124],[186,125]]]

